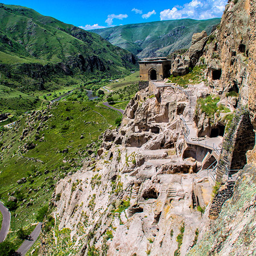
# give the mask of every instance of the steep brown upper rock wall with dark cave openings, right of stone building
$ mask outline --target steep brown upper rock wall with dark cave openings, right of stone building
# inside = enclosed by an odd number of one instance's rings
[[[230,91],[239,92],[244,105],[248,100],[249,20],[249,0],[231,1],[220,26],[209,37],[204,56],[210,85],[223,97]]]

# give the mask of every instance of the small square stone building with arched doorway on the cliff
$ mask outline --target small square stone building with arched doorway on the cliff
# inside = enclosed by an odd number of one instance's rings
[[[171,61],[167,58],[153,58],[139,61],[140,82],[139,89],[148,86],[148,81],[163,81],[170,76]]]

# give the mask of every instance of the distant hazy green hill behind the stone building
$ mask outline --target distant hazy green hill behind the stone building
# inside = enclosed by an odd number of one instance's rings
[[[177,49],[189,48],[194,33],[219,24],[220,18],[209,20],[170,20],[128,24],[90,30],[104,37],[111,44],[129,50],[139,58],[167,56]]]

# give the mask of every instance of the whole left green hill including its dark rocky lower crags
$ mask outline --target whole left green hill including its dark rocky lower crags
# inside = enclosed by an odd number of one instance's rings
[[[0,84],[21,91],[51,88],[85,77],[137,67],[128,51],[102,37],[15,5],[0,4]]]

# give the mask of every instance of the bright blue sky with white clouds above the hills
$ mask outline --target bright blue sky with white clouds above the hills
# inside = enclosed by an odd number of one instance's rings
[[[160,20],[221,17],[227,0],[2,0],[86,30]]]

